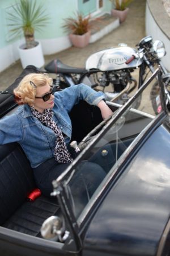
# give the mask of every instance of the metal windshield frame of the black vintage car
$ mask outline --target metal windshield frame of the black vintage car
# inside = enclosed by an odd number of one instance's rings
[[[67,193],[67,184],[69,183],[71,177],[74,174],[74,169],[76,166],[78,166],[79,162],[83,159],[84,154],[88,150],[90,150],[99,140],[100,138],[107,133],[107,131],[113,126],[114,123],[118,120],[118,118],[121,117],[122,114],[124,114],[128,109],[131,108],[131,104],[135,101],[135,99],[142,94],[143,90],[146,89],[146,87],[150,84],[150,82],[154,78],[158,79],[159,85],[160,85],[160,102],[162,106],[162,112],[160,112],[155,118],[149,114],[146,114],[144,112],[141,112],[142,115],[147,115],[150,118],[153,118],[150,123],[139,133],[137,138],[134,139],[134,141],[130,144],[128,147],[128,156],[131,156],[135,150],[135,148],[138,146],[143,139],[146,139],[147,136],[150,134],[153,127],[159,126],[160,122],[167,116],[167,106],[165,102],[165,94],[164,94],[164,84],[162,79],[162,72],[160,68],[156,69],[156,71],[151,75],[151,77],[137,90],[137,92],[134,94],[133,97],[130,98],[128,102],[126,102],[125,105],[121,106],[117,110],[117,112],[114,114],[113,117],[109,118],[107,121],[105,121],[105,125],[103,126],[103,129],[97,133],[95,138],[84,148],[82,152],[76,157],[76,159],[67,167],[67,169],[56,179],[53,181],[53,196],[57,196],[59,204],[61,206],[61,210],[63,213],[63,217],[66,218],[67,224],[70,226],[71,233],[73,234],[74,240],[76,241],[77,245],[81,246],[80,236],[81,230],[83,230],[84,225],[86,225],[88,216],[92,212],[95,212],[95,208],[97,205],[97,202],[101,200],[101,197],[104,197],[105,193],[108,191],[108,189],[111,186],[111,183],[113,183],[113,180],[116,179],[116,176],[119,174],[120,167],[124,166],[125,163],[125,154],[122,154],[120,159],[118,159],[117,164],[113,166],[112,173],[107,175],[107,179],[104,178],[104,181],[101,182],[102,186],[100,187],[100,191],[96,189],[97,193],[95,192],[94,195],[91,197],[90,202],[86,207],[84,208],[83,212],[80,214],[80,216],[76,219],[75,215],[73,213],[73,209],[71,208],[70,200],[68,198]],[[138,112],[139,110],[134,110],[133,108],[130,109],[130,111]],[[102,188],[101,188],[102,187]]]

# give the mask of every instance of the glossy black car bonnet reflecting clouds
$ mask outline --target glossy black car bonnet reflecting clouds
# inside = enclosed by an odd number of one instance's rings
[[[125,168],[88,228],[83,255],[89,248],[102,255],[156,254],[170,213],[167,141],[169,130],[160,126]]]

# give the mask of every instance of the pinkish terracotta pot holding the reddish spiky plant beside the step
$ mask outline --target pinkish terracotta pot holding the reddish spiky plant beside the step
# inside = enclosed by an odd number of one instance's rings
[[[90,40],[90,31],[83,35],[74,35],[70,34],[69,38],[71,40],[71,43],[75,47],[83,48],[88,45],[89,40]]]

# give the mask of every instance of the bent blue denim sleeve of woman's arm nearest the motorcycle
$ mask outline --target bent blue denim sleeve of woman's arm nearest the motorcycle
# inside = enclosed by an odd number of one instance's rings
[[[105,98],[103,92],[96,92],[90,86],[85,84],[78,84],[71,86],[54,94],[56,100],[65,105],[65,109],[69,112],[79,100],[84,100],[90,105],[97,105]]]

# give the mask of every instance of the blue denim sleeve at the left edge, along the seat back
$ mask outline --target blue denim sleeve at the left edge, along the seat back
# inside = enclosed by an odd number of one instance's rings
[[[16,114],[0,119],[0,144],[19,142],[22,138],[22,123]]]

